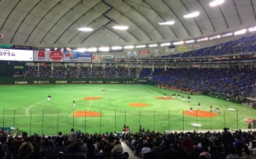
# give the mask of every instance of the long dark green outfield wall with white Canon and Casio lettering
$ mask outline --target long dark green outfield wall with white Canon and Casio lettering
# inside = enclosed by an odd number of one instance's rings
[[[155,82],[135,78],[0,78],[4,84],[149,84]]]

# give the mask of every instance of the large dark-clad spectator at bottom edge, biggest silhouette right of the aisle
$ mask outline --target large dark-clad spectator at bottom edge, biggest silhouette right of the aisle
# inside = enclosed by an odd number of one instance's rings
[[[195,153],[195,145],[193,140],[184,139],[182,140],[182,148],[178,151],[175,151],[172,155],[172,159],[198,159],[198,156]]]

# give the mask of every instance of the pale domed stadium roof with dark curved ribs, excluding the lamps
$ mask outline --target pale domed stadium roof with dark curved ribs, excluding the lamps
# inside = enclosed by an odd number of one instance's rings
[[[1,44],[100,47],[163,43],[256,25],[256,0],[0,0]],[[198,17],[184,15],[199,11]],[[159,22],[174,21],[172,25]],[[128,26],[116,30],[113,26]],[[93,31],[77,30],[90,27]]]

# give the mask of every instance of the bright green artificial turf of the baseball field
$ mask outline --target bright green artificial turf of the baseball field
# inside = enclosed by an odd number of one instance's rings
[[[51,85],[15,85],[1,86],[0,123],[4,126],[19,126],[19,130],[28,133],[54,135],[68,133],[71,128],[88,133],[122,132],[124,124],[131,132],[138,132],[139,126],[145,130],[216,130],[224,126],[230,129],[247,128],[243,119],[255,117],[255,110],[237,103],[219,100],[209,96],[184,95],[184,101],[177,99],[177,92],[147,85],[123,84],[51,84]],[[106,94],[102,94],[106,89]],[[172,96],[175,100],[163,100],[156,97]],[[47,96],[51,95],[51,101]],[[89,100],[84,100],[89,97]],[[90,97],[102,97],[90,100]],[[72,101],[76,101],[76,107]],[[201,110],[209,112],[220,108],[221,115],[200,117],[196,115],[198,102]],[[133,107],[129,103],[147,103],[147,107]],[[193,115],[183,114],[183,110],[193,107]],[[228,110],[228,109],[235,110]],[[85,112],[85,111],[91,112]],[[101,113],[101,116],[93,112]],[[224,113],[225,112],[225,113]],[[74,114],[76,116],[74,116]],[[215,112],[212,113],[214,115]],[[98,114],[99,115],[99,114]],[[238,116],[237,116],[238,115]],[[197,123],[202,126],[195,127]]]

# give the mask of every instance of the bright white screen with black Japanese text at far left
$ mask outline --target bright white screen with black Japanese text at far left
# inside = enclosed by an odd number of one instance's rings
[[[33,61],[33,50],[0,49],[0,60]]]

